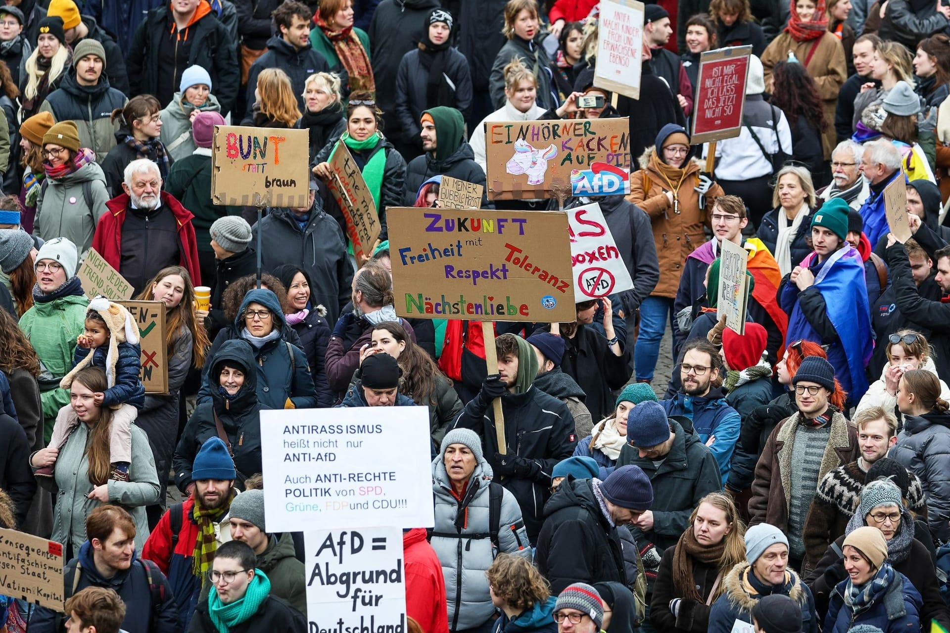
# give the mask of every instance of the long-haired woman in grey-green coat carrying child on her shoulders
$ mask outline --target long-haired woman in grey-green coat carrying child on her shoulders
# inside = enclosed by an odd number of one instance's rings
[[[109,435],[112,410],[96,404],[95,395],[107,388],[105,372],[99,367],[85,367],[73,377],[69,404],[59,412],[59,419],[76,426],[63,448],[45,448],[30,456],[36,471],[53,466],[53,477],[39,477],[41,485],[59,491],[53,511],[50,538],[66,547],[66,555],[75,556],[87,540],[85,517],[90,511],[107,503],[121,503],[135,520],[135,549],[142,550],[148,538],[145,506],[159,501],[159,475],[155,470],[148,436],[133,424],[132,461],[128,481],[109,479],[112,466],[109,458]],[[167,474],[163,474],[167,475]]]

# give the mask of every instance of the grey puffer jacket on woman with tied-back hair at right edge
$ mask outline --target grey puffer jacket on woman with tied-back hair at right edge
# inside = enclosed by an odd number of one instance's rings
[[[888,455],[921,478],[927,523],[935,539],[950,537],[950,414],[904,416],[903,431]]]

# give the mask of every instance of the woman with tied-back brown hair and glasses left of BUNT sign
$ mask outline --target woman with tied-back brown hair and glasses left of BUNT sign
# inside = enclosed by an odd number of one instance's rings
[[[125,165],[136,158],[148,158],[159,166],[161,180],[168,179],[168,170],[175,159],[161,142],[161,103],[152,95],[132,97],[125,107],[112,111],[113,124],[119,125],[115,133],[116,146],[109,150],[103,160],[105,184],[115,196],[123,193]]]

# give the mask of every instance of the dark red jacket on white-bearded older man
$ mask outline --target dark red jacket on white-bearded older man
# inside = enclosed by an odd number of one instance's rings
[[[102,255],[109,266],[115,270],[119,270],[119,264],[122,261],[122,225],[130,201],[131,198],[128,194],[120,194],[106,202],[105,208],[108,209],[108,213],[99,218],[96,233],[92,236],[92,248]],[[198,240],[195,238],[195,227],[191,223],[195,216],[182,207],[174,195],[165,192],[161,192],[161,206],[175,214],[181,246],[180,265],[188,270],[192,283],[195,286],[200,286],[201,270],[198,264]]]

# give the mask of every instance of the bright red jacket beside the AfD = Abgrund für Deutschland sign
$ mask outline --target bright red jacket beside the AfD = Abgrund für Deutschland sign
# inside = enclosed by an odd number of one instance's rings
[[[424,528],[403,532],[406,613],[425,633],[448,633],[446,579]]]

